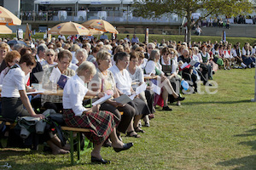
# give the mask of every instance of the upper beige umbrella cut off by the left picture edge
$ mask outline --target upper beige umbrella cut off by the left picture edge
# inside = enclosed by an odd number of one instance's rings
[[[0,25],[5,25],[6,23],[8,23],[9,26],[20,26],[21,20],[7,8],[0,6]]]

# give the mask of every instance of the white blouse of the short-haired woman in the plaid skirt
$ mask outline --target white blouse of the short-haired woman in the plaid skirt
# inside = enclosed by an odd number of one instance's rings
[[[87,111],[83,106],[83,100],[88,89],[84,86],[84,81],[75,75],[67,80],[63,90],[63,109],[72,109],[75,116],[81,116]]]

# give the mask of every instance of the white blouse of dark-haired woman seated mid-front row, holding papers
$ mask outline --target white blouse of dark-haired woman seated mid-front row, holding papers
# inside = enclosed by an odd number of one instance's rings
[[[123,94],[131,95],[131,77],[129,72],[124,69],[122,74],[116,65],[113,65],[108,70],[113,73],[116,88],[118,88]]]

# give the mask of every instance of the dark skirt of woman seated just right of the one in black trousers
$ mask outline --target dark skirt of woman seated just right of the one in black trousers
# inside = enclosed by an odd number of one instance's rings
[[[130,101],[128,104],[135,109],[136,111],[135,115],[145,116],[145,115],[151,114],[151,111],[149,110],[148,105],[142,99],[135,98],[132,101]]]

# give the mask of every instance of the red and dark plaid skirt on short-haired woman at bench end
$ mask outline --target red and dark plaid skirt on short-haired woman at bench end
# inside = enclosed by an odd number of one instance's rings
[[[102,144],[119,124],[119,119],[109,111],[84,112],[75,116],[72,109],[64,109],[63,119],[68,127],[89,128],[90,133],[84,134],[94,144]]]

